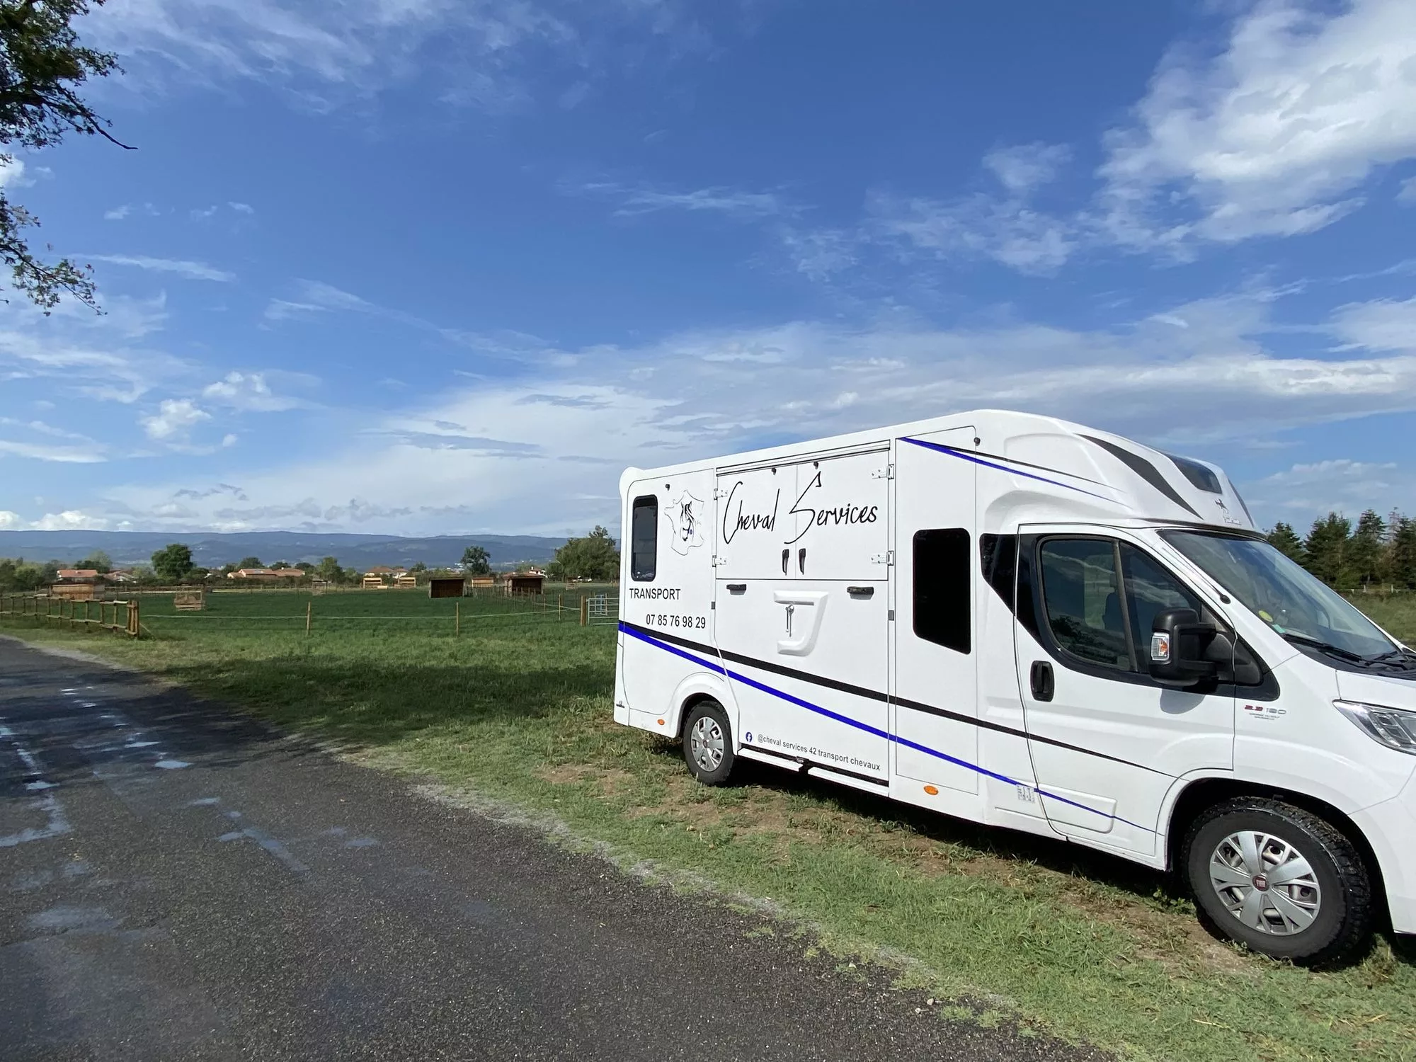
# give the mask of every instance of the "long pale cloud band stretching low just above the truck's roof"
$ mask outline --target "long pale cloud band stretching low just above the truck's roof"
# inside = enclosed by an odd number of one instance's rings
[[[1291,429],[1416,411],[1416,353],[1284,357],[1257,338],[1269,312],[1257,297],[1216,299],[1097,330],[793,321],[564,350],[534,381],[479,379],[317,460],[245,469],[245,500],[183,497],[177,515],[163,508],[176,484],[118,487],[106,514],[174,528],[561,534],[613,521],[627,464],[960,409],[1032,409],[1221,463]]]

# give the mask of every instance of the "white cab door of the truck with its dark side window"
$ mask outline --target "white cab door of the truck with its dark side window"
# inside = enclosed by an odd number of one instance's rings
[[[1232,692],[1163,687],[1147,671],[1151,620],[1171,607],[1226,626],[1140,542],[1062,527],[1022,537],[1018,678],[1037,790],[1062,834],[1155,855],[1171,783],[1233,769]]]

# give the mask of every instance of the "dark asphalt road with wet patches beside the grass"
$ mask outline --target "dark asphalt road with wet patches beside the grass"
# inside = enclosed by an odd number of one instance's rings
[[[1095,1058],[0,640],[3,1059]]]

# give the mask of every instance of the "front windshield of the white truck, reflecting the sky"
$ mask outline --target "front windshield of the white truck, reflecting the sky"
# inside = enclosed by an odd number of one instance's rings
[[[1354,605],[1267,542],[1202,531],[1160,534],[1279,634],[1366,658],[1395,649]]]

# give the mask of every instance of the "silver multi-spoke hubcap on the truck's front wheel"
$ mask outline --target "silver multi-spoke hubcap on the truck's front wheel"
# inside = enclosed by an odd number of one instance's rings
[[[1281,837],[1242,830],[1209,857],[1209,882],[1225,909],[1249,929],[1301,933],[1323,906],[1317,874]]]

